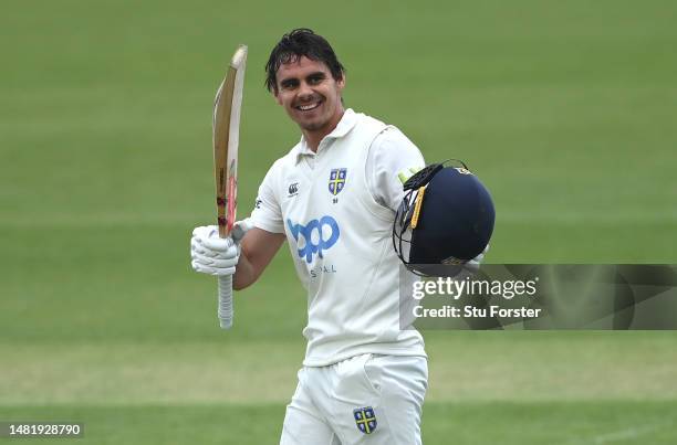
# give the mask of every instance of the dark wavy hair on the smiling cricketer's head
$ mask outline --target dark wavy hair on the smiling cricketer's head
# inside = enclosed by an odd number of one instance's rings
[[[343,78],[345,68],[336,59],[334,50],[322,35],[308,28],[298,28],[282,35],[273,47],[265,64],[265,87],[271,93],[278,93],[277,74],[280,65],[298,61],[301,56],[324,63],[335,81]]]

